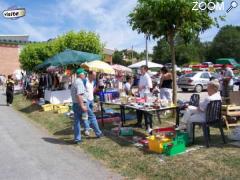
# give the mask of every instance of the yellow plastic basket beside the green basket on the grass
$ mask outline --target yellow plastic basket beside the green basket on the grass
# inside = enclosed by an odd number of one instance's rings
[[[156,136],[149,136],[148,139],[148,147],[151,151],[162,153],[163,145],[165,143],[171,142],[172,140],[169,138],[158,138]]]

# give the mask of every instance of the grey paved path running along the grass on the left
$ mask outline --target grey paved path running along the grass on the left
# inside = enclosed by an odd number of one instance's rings
[[[2,94],[0,144],[0,179],[122,179],[80,148],[58,141],[5,106]]]

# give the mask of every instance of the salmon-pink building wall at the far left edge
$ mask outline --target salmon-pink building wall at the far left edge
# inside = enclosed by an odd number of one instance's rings
[[[20,69],[18,45],[0,44],[0,74],[9,75]]]

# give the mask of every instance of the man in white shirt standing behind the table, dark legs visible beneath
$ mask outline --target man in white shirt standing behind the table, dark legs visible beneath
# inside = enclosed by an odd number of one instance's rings
[[[141,76],[138,84],[138,92],[140,97],[147,97],[150,93],[150,89],[152,88],[152,79],[149,76],[148,67],[146,65],[141,66]],[[143,113],[143,111],[137,110],[137,120],[138,122],[135,124],[137,127],[142,127],[142,116],[144,115],[145,126],[147,131],[151,132],[151,116],[148,113]]]

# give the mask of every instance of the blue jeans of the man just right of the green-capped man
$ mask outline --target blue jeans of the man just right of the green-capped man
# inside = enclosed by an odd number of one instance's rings
[[[98,122],[97,122],[97,118],[94,114],[93,111],[93,101],[88,100],[87,102],[87,109],[88,109],[88,123],[91,125],[91,127],[93,128],[96,136],[100,136],[102,134],[102,131],[100,130],[99,126],[98,126]],[[88,127],[89,127],[88,124]]]

